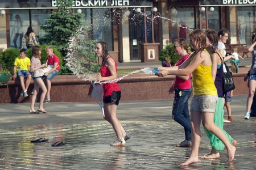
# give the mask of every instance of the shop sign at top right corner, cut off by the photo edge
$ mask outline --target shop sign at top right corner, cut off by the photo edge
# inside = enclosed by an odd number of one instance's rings
[[[256,0],[208,0],[201,1],[201,6],[251,6]]]

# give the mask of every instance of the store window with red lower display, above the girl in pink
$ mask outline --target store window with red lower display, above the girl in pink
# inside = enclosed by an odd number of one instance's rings
[[[186,39],[189,41],[188,33],[190,32],[185,27],[195,29],[195,18],[197,15],[194,12],[194,7],[175,7],[171,9],[172,20],[172,41],[175,39]]]

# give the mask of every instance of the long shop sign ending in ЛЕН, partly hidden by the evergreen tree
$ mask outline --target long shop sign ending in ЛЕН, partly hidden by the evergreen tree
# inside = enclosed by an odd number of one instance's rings
[[[0,0],[0,8],[57,8],[57,0]],[[73,0],[74,8],[151,7],[150,0]]]

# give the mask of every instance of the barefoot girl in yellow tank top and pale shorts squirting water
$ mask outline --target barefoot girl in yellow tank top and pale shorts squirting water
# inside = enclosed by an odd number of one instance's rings
[[[214,111],[217,103],[217,90],[212,79],[212,61],[210,55],[205,50],[206,37],[201,29],[195,29],[189,33],[190,44],[195,52],[177,67],[169,67],[168,70],[158,68],[158,76],[170,75],[189,75],[193,76],[194,95],[191,101],[191,131],[192,131],[192,150],[191,156],[181,166],[198,162],[199,145],[201,140],[200,125],[203,120],[204,128],[216,135],[228,150],[228,161],[234,159],[236,147],[229,143],[224,132],[214,124]]]

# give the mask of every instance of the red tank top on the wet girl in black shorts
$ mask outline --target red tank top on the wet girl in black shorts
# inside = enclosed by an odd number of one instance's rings
[[[112,58],[112,57],[110,57],[110,58]],[[105,62],[102,64],[100,71],[101,71],[101,76],[103,76],[103,77],[111,75],[108,67],[106,67],[106,65],[105,65]],[[115,62],[115,71],[117,71],[117,62]],[[104,97],[112,95],[113,91],[121,91],[121,88],[119,87],[117,82],[115,82],[115,83],[105,83],[105,84],[103,84],[102,87],[103,87],[103,92],[104,92],[103,96]]]

